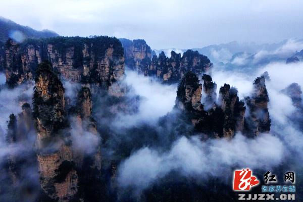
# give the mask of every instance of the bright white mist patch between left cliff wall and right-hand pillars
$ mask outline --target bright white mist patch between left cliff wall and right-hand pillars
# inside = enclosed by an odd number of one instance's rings
[[[138,111],[134,114],[118,114],[118,126],[131,127],[140,123],[155,124],[158,119],[172,111],[175,105],[177,84],[163,85],[154,77],[146,77],[132,70],[126,70],[124,80],[130,90],[130,99],[139,96]],[[130,106],[133,104],[129,104]]]

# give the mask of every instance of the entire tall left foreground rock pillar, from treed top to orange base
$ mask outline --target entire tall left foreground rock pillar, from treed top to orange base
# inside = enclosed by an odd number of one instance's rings
[[[40,184],[49,197],[68,201],[78,191],[78,175],[64,110],[64,88],[48,62],[38,66],[35,84],[33,115]]]

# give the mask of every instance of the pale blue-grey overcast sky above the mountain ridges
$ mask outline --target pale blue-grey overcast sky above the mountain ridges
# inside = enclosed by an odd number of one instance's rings
[[[303,38],[301,0],[0,0],[0,15],[66,36],[143,38],[152,48]]]

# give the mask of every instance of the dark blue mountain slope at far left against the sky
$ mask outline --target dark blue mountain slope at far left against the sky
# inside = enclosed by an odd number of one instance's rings
[[[0,17],[0,41],[2,42],[7,41],[9,38],[22,41],[26,38],[48,38],[55,36],[59,36],[59,34],[46,29],[37,31],[28,26],[22,26],[12,20]]]

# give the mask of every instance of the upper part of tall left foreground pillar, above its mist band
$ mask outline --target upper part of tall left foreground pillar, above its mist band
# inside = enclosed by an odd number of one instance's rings
[[[34,117],[38,139],[49,138],[68,126],[64,87],[49,62],[38,66],[34,87]]]

